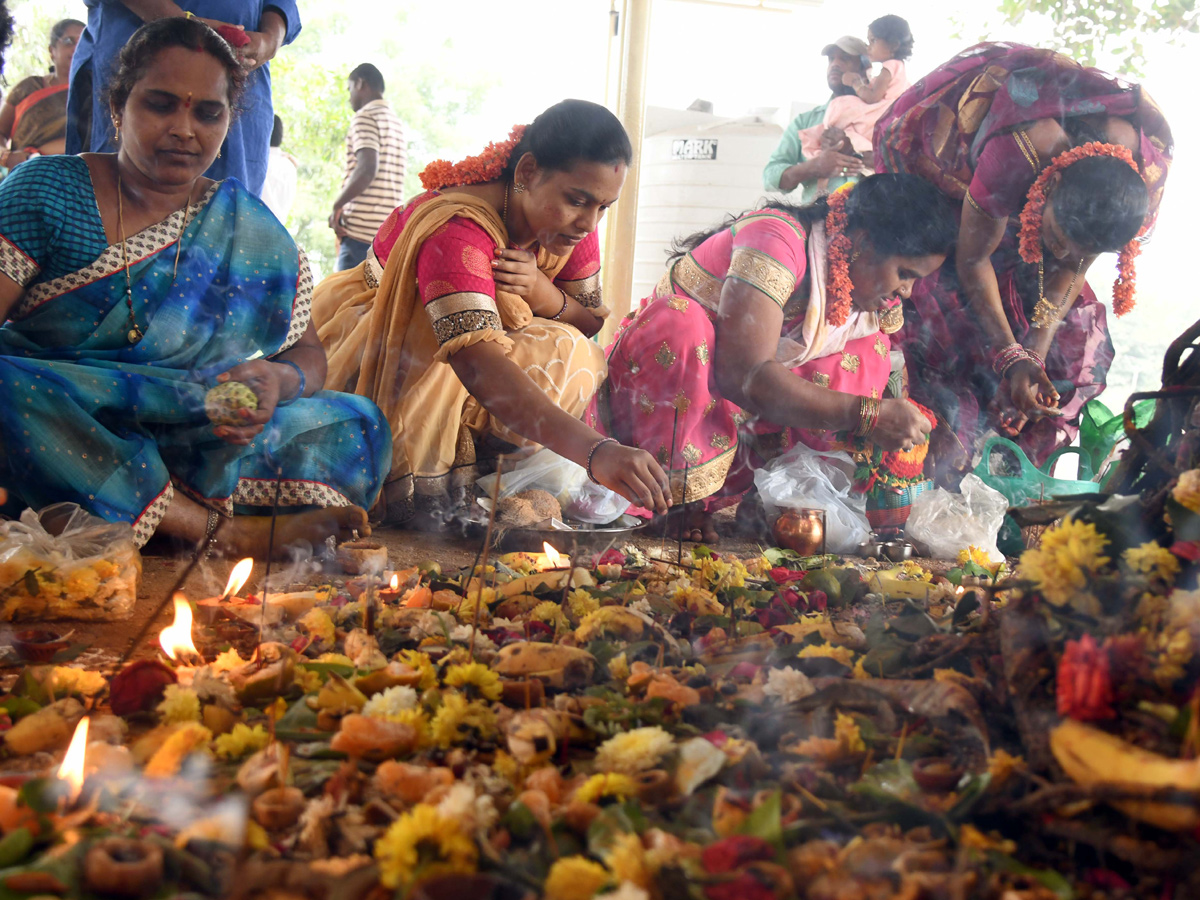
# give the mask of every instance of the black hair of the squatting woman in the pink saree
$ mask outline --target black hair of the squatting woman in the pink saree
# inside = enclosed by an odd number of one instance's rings
[[[786,212],[808,230],[818,222],[824,223],[829,202],[821,197],[806,206],[796,206],[770,200],[762,209]],[[695,250],[738,217],[728,216],[716,228],[677,240],[668,258],[674,260]],[[954,204],[931,182],[919,175],[887,173],[864,178],[854,185],[846,198],[846,230],[865,233],[871,248],[881,257],[947,256],[958,240],[959,224]]]

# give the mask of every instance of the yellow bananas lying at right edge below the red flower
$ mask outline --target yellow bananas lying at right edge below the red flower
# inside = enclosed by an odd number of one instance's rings
[[[1050,732],[1050,750],[1063,772],[1079,785],[1120,785],[1130,792],[1159,788],[1200,791],[1200,758],[1171,760],[1127,740],[1067,719]],[[1127,816],[1169,832],[1200,826],[1200,808],[1151,800],[1112,803]]]

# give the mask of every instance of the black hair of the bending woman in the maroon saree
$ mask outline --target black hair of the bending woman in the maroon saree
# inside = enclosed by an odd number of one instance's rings
[[[1072,241],[1093,253],[1111,253],[1138,235],[1150,191],[1123,160],[1086,156],[1062,170],[1050,203],[1058,227]]]

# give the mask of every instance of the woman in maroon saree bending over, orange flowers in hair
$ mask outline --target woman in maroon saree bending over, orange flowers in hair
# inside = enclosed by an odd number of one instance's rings
[[[955,265],[917,282],[893,340],[913,400],[967,456],[989,428],[1039,463],[1074,438],[1114,355],[1084,275],[1122,250],[1115,308],[1132,307],[1132,241],[1154,222],[1171,149],[1140,86],[1013,43],[962,52],[878,121],[876,169],[922,175],[961,204]]]

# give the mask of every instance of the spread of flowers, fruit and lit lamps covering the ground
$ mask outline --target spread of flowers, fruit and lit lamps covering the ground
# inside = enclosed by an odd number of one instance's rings
[[[1012,569],[652,540],[178,594],[114,671],[7,670],[0,898],[1200,896],[1200,472],[1127,503]]]

